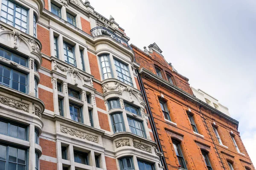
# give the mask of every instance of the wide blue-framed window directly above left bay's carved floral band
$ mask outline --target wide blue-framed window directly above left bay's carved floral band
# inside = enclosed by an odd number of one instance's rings
[[[27,74],[0,65],[0,85],[27,93]]]

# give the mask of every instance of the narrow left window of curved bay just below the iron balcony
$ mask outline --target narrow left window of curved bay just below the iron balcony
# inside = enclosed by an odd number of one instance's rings
[[[112,78],[111,66],[109,63],[108,55],[102,55],[99,57],[100,67],[102,69],[102,79]]]

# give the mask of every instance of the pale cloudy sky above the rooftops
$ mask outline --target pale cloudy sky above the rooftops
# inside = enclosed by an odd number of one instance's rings
[[[194,88],[214,96],[239,121],[256,165],[255,0],[89,0],[125,29],[138,48],[156,42]]]

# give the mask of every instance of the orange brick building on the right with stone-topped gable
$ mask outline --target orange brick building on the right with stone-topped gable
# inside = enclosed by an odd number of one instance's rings
[[[169,170],[255,170],[241,141],[239,122],[215,108],[213,103],[221,106],[218,100],[190,88],[189,79],[166,62],[156,43],[149,50],[131,46],[140,63],[139,85],[151,130],[158,136],[163,166]]]

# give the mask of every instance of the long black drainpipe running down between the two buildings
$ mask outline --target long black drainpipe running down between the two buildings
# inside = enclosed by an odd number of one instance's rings
[[[156,125],[154,124],[154,118],[153,118],[151,109],[149,107],[148,97],[147,97],[147,94],[145,92],[143,81],[142,81],[142,79],[140,77],[138,69],[136,69],[135,71],[138,74],[138,78],[137,79],[138,79],[138,82],[139,82],[139,85],[140,85],[140,89],[141,89],[141,92],[142,92],[143,99],[146,102],[146,111],[147,111],[147,113],[149,113],[149,116],[150,116],[149,117],[149,122],[150,122],[151,127],[153,128],[152,130],[153,130],[154,140],[157,141],[157,149],[163,154],[163,148],[162,148],[160,139],[158,137]],[[164,166],[164,169],[168,170],[168,167],[167,167],[167,164],[166,164],[166,160],[164,159],[164,154],[163,154],[163,156],[160,156],[160,160],[161,160],[161,163]]]

